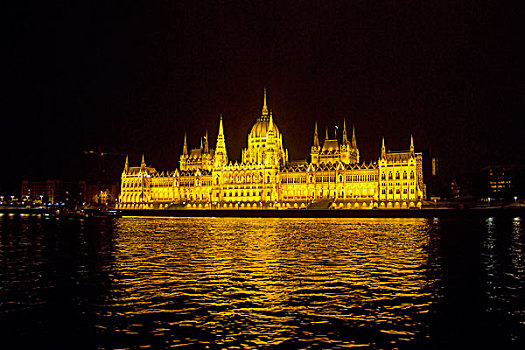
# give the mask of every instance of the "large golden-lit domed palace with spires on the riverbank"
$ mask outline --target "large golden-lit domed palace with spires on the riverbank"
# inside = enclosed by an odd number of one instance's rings
[[[118,208],[121,209],[257,209],[257,208],[415,208],[425,197],[422,154],[410,149],[387,151],[385,142],[377,162],[360,163],[352,128],[348,140],[346,122],[342,140],[321,145],[314,128],[310,163],[290,161],[283,135],[266,103],[248,134],[241,162],[228,159],[222,116],[215,149],[208,137],[189,150],[187,138],[179,169],[157,171],[138,167],[128,159],[122,172]]]

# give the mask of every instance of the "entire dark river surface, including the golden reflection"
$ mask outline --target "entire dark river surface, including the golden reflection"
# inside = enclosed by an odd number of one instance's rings
[[[525,348],[523,220],[1,215],[1,347]]]

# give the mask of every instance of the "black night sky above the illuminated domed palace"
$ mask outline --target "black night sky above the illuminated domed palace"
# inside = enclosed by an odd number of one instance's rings
[[[314,122],[362,159],[416,149],[461,174],[524,161],[523,13],[480,1],[12,1],[1,55],[2,191],[82,178],[83,150],[175,168],[184,132],[240,158],[262,90],[291,159]],[[122,156],[106,157],[118,169]]]

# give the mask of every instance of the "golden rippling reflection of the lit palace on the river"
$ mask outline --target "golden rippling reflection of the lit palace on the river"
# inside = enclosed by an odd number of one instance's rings
[[[135,345],[151,345],[149,334],[160,346],[392,347],[424,332],[431,228],[426,219],[122,218],[107,316],[114,331],[143,335]]]

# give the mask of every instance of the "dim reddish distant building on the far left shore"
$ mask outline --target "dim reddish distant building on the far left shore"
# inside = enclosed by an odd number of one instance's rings
[[[22,181],[21,200],[67,204],[83,203],[85,199],[85,181]]]

